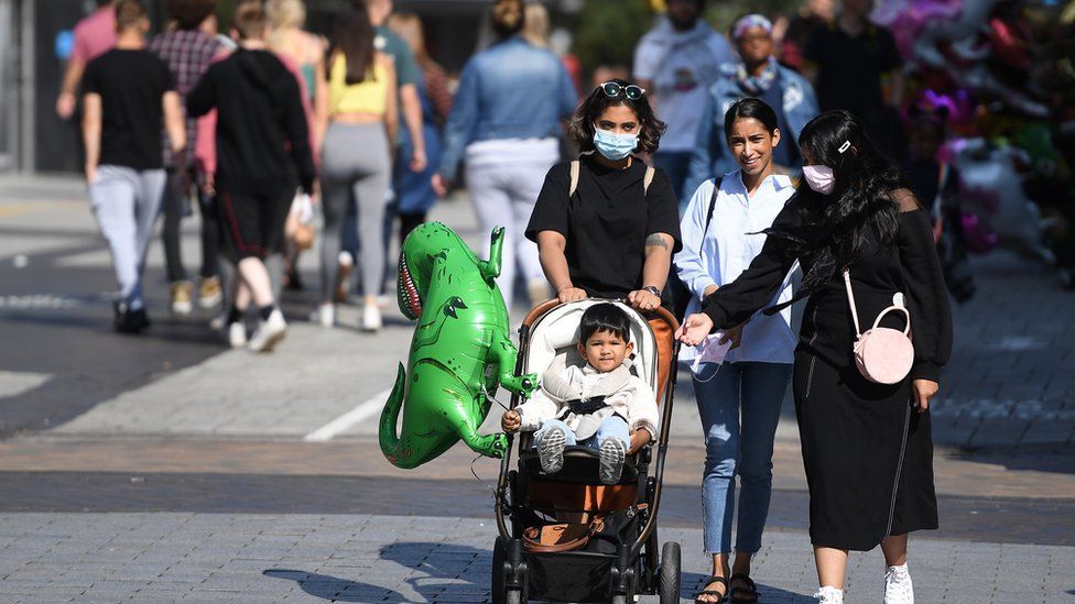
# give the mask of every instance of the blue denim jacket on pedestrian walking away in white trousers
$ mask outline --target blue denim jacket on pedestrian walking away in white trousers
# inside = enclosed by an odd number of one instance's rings
[[[511,36],[467,62],[444,130],[441,174],[455,180],[467,145],[561,132],[578,94],[560,58]]]

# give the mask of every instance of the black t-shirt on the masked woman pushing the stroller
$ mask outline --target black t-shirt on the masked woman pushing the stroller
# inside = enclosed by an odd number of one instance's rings
[[[680,210],[672,183],[658,168],[643,195],[645,164],[636,158],[627,169],[580,160],[578,187],[567,198],[571,162],[553,166],[538,196],[526,238],[556,231],[567,240],[565,254],[572,283],[589,296],[619,298],[644,284],[645,238],[665,233],[680,251]]]

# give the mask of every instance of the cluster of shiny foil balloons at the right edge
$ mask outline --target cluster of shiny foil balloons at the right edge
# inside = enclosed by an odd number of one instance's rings
[[[999,245],[1058,268],[1075,264],[1075,143],[1058,151],[1060,122],[1075,123],[1075,1],[1061,4],[883,0],[872,15],[908,59],[913,105],[944,107],[959,136],[941,161],[962,177],[969,251]]]

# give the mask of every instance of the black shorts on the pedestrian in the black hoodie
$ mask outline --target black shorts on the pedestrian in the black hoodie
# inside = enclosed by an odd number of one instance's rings
[[[294,191],[217,193],[222,252],[231,262],[280,252]]]

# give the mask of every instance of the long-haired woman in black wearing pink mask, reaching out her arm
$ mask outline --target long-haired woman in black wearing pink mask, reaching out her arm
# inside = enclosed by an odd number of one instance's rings
[[[930,400],[952,348],[952,317],[930,215],[846,111],[803,129],[806,182],[777,217],[761,254],[734,283],[705,299],[678,337],[696,344],[768,304],[795,260],[808,297],[795,351],[793,389],[810,487],[810,536],[819,602],[843,602],[847,551],[878,545],[888,564],[886,604],[913,602],[908,534],[937,528]],[[864,328],[902,293],[914,364],[900,383],[867,381],[843,268],[850,273]],[[779,307],[767,312],[779,310]],[[882,327],[902,329],[890,314]]]

